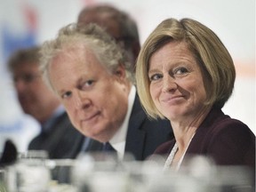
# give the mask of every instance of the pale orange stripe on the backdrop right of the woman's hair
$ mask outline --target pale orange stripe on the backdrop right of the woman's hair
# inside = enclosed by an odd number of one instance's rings
[[[255,63],[236,62],[235,67],[237,77],[255,78]]]

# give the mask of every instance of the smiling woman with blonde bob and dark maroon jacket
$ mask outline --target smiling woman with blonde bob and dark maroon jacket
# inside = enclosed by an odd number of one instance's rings
[[[217,165],[255,169],[255,135],[221,110],[235,78],[233,60],[220,38],[196,20],[167,19],[148,36],[136,80],[148,115],[172,124],[175,138],[155,152],[166,156],[164,169],[177,171],[197,155]]]

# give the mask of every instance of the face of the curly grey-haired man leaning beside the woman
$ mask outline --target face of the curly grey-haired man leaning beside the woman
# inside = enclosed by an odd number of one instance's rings
[[[124,69],[110,75],[92,52],[73,49],[57,55],[49,72],[76,129],[101,142],[110,140],[123,123],[128,105],[130,86]]]

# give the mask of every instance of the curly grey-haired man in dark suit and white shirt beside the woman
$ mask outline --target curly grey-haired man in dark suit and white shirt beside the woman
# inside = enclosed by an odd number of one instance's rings
[[[43,44],[41,69],[79,132],[144,160],[172,139],[168,121],[150,121],[140,106],[124,50],[94,23],[70,24]],[[110,146],[109,146],[110,145]],[[104,148],[102,148],[104,149]]]

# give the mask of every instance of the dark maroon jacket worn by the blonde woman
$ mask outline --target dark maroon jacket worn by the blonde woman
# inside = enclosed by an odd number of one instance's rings
[[[175,139],[164,143],[155,154],[169,155],[174,143]],[[212,108],[196,130],[184,160],[189,155],[212,157],[218,165],[255,167],[255,135],[246,124],[224,115],[218,108]]]

